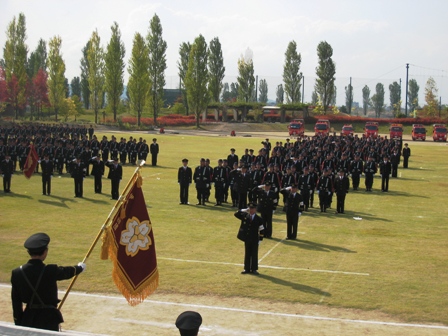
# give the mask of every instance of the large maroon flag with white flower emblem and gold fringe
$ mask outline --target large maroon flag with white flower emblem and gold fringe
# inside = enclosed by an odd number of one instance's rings
[[[112,223],[103,234],[102,259],[113,263],[112,278],[131,306],[152,294],[159,285],[151,220],[138,173]]]

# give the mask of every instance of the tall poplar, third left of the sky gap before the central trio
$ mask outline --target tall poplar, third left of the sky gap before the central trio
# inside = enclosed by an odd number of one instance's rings
[[[117,121],[117,111],[120,105],[120,97],[123,93],[124,55],[126,53],[124,43],[121,41],[121,32],[118,23],[114,22],[111,27],[112,36],[107,45],[104,57],[105,92],[107,95],[107,106],[112,110],[114,121]]]

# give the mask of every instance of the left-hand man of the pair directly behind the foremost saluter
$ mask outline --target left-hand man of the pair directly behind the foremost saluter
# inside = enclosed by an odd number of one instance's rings
[[[257,211],[263,219],[264,237],[272,238],[272,215],[277,209],[278,198],[271,190],[271,182],[267,181],[264,185],[256,186],[257,190]]]

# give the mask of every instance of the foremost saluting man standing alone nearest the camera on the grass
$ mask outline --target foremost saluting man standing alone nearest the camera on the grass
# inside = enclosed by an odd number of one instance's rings
[[[257,205],[249,203],[249,208],[240,209],[234,216],[241,220],[238,238],[244,241],[244,271],[241,274],[258,275],[258,244],[263,239],[264,226],[257,215]]]

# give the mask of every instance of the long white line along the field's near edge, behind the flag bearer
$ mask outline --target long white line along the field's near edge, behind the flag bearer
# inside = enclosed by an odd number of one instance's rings
[[[11,288],[11,285],[0,284],[0,287]],[[59,291],[59,293],[64,294],[65,292]],[[90,298],[100,298],[100,299],[118,300],[118,301],[126,302],[125,298],[121,297],[121,296],[87,294],[87,293],[73,292],[73,291],[70,292],[70,294],[71,295],[75,295],[75,296],[84,296],[84,297],[90,297]],[[211,310],[232,311],[232,312],[239,312],[239,313],[246,313],[246,314],[259,314],[259,315],[270,315],[270,316],[279,316],[279,317],[291,317],[291,318],[308,319],[308,320],[322,320],[322,321],[336,321],[336,322],[346,322],[346,323],[387,325],[387,326],[394,326],[394,327],[409,327],[409,328],[425,328],[425,329],[448,330],[448,326],[442,326],[442,325],[399,323],[399,322],[384,322],[384,321],[369,321],[369,320],[354,320],[354,319],[343,319],[343,318],[337,318],[337,317],[276,313],[276,312],[268,312],[268,311],[253,310],[253,309],[229,308],[229,307],[220,307],[220,306],[208,306],[208,305],[200,305],[200,304],[178,303],[178,302],[156,301],[156,300],[145,300],[143,302],[143,304],[148,304],[148,303],[158,304],[158,305],[181,306],[181,307],[187,307],[187,308],[202,308],[202,309],[211,309]]]

